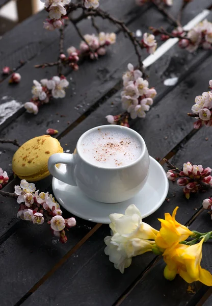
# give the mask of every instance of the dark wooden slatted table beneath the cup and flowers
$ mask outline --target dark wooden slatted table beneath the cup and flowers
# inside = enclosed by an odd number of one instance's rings
[[[209,0],[194,0],[185,10],[182,23],[210,5]],[[176,16],[180,3],[174,1],[170,9]],[[147,31],[149,25],[169,28],[164,16],[153,7],[138,8],[134,0],[103,0],[101,7],[127,22],[133,31]],[[208,19],[212,20],[209,15]],[[77,139],[91,127],[105,124],[105,115],[117,114],[120,107],[121,75],[129,62],[136,64],[130,43],[117,33],[117,43],[107,56],[98,62],[84,62],[78,72],[66,72],[70,86],[66,97],[42,107],[37,116],[25,113],[21,107],[31,98],[32,81],[50,78],[55,68],[45,70],[33,66],[55,60],[58,54],[58,32],[42,29],[46,12],[26,19],[8,32],[0,41],[1,66],[17,67],[22,80],[9,86],[5,79],[1,86],[0,138],[17,138],[23,143],[45,134],[48,127],[59,130],[58,139],[64,150],[74,150]],[[83,33],[92,33],[89,20],[78,24]],[[104,31],[112,31],[111,24],[101,24]],[[71,25],[65,30],[65,47],[78,45],[80,39]],[[145,53],[144,53],[145,54]],[[19,60],[25,64],[19,67]],[[211,74],[211,52],[199,50],[189,54],[173,46],[153,63],[147,72],[149,83],[158,95],[145,119],[135,120],[131,126],[146,141],[149,154],[161,160],[166,157],[177,166],[191,161],[212,166],[211,129],[193,130],[193,118],[187,117],[196,95],[208,88]],[[167,87],[164,80],[179,77],[175,86]],[[11,103],[10,101],[15,102]],[[113,104],[112,104],[113,102]],[[206,139],[208,139],[206,141]],[[12,174],[11,161],[16,150],[12,144],[0,144],[0,166]],[[18,184],[13,179],[4,188],[13,192]],[[51,177],[36,183],[42,191],[51,192]],[[176,196],[173,194],[176,192]],[[179,206],[177,219],[191,230],[207,232],[212,221],[202,211],[205,194],[192,196],[188,201],[176,185],[170,184],[170,201],[145,221],[160,227],[157,218]],[[211,289],[199,282],[189,284],[176,277],[173,282],[163,276],[165,263],[161,257],[146,253],[133,259],[122,275],[114,269],[104,254],[108,225],[95,224],[76,218],[77,226],[61,244],[51,236],[49,226],[33,226],[16,218],[15,200],[1,198],[0,206],[0,305],[211,305]],[[71,216],[64,211],[65,216]],[[202,266],[212,271],[211,243],[203,246]]]

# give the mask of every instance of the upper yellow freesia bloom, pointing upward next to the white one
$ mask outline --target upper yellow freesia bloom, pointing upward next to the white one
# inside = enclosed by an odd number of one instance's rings
[[[172,216],[166,213],[165,220],[158,219],[161,222],[161,230],[157,233],[155,243],[161,249],[171,247],[173,244],[186,240],[189,236],[193,235],[193,232],[186,226],[175,220],[177,209],[178,207],[175,208]]]

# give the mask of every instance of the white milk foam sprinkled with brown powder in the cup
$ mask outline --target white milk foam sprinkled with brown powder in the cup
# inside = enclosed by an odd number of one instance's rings
[[[116,168],[135,162],[141,155],[141,144],[126,130],[98,129],[82,141],[83,158],[99,167]]]

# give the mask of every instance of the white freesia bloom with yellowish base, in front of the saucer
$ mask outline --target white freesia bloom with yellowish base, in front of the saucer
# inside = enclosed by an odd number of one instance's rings
[[[107,245],[104,252],[109,255],[114,267],[123,273],[131,264],[132,257],[151,251],[158,231],[142,222],[141,213],[135,205],[130,205],[125,215],[111,214],[110,219],[113,236],[104,239]]]

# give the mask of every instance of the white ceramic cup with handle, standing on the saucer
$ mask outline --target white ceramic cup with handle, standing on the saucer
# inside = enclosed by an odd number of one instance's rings
[[[126,166],[116,168],[96,166],[89,160],[85,160],[82,154],[83,139],[97,129],[110,132],[126,129],[128,137],[132,135],[140,142],[140,157]],[[65,164],[66,172],[56,167],[57,164]],[[117,203],[133,197],[144,186],[149,173],[149,154],[143,138],[134,130],[120,125],[102,125],[94,127],[80,137],[74,154],[57,153],[50,156],[48,169],[56,179],[72,186],[78,186],[93,200]]]

